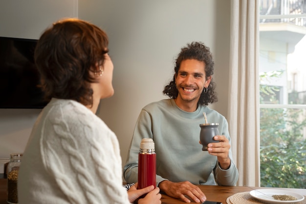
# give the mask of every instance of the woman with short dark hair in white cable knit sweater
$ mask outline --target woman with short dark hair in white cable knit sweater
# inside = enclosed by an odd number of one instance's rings
[[[111,97],[108,37],[84,20],[46,29],[35,49],[46,99],[23,154],[19,204],[160,204],[159,188],[122,186],[115,134],[95,115]]]

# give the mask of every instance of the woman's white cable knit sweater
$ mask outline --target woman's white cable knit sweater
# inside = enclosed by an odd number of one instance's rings
[[[52,99],[24,151],[19,204],[130,204],[119,143],[87,107]]]

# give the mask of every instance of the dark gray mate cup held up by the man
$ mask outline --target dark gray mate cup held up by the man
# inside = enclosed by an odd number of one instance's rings
[[[214,140],[216,135],[219,135],[219,123],[204,123],[200,124],[200,141],[203,145],[202,151],[207,151],[208,143],[219,143],[219,140]]]

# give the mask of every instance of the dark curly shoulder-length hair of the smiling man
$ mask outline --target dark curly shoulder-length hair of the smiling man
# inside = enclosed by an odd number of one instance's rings
[[[178,95],[178,90],[175,87],[175,76],[178,74],[180,64],[184,60],[197,60],[203,61],[205,64],[205,75],[206,80],[208,77],[214,74],[214,61],[213,56],[210,52],[209,47],[205,46],[202,42],[192,42],[187,44],[186,47],[181,48],[181,52],[178,54],[178,57],[175,61],[173,76],[173,81],[165,86],[163,94],[169,96],[172,99],[175,99]],[[198,104],[208,105],[208,103],[217,102],[217,93],[214,91],[216,88],[216,83],[211,80],[209,86],[207,87],[207,92],[202,92]]]

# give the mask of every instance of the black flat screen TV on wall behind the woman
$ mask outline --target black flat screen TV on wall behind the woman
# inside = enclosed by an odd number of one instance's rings
[[[37,40],[0,37],[0,108],[43,108],[44,93],[34,63]]]

